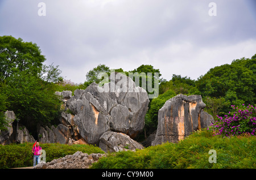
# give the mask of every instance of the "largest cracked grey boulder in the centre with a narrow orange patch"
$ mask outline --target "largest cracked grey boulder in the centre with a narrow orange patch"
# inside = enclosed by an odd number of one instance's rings
[[[113,73],[110,76],[121,80],[115,78],[104,88],[92,83],[85,90],[76,89],[67,101],[68,109],[74,114],[72,127],[88,144],[98,145],[101,135],[107,131],[135,138],[143,130],[149,103],[147,92],[135,87],[129,77]]]

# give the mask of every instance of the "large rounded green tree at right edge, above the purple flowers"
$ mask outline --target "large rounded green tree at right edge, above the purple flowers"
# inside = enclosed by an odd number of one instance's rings
[[[202,96],[224,97],[234,105],[241,100],[246,104],[255,104],[255,61],[241,58],[230,65],[211,68],[197,79],[196,87]]]

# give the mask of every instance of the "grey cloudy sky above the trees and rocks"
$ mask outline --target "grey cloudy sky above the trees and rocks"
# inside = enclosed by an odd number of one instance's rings
[[[38,4],[46,4],[39,16]],[[209,16],[209,3],[217,16]],[[0,36],[35,42],[47,65],[83,83],[97,65],[192,79],[256,53],[254,0],[0,0]]]

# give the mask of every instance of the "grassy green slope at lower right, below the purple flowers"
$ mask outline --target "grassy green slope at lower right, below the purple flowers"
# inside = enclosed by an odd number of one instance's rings
[[[92,168],[256,168],[255,145],[255,136],[222,138],[204,130],[176,144],[112,153]],[[209,163],[210,149],[216,151],[217,163]]]

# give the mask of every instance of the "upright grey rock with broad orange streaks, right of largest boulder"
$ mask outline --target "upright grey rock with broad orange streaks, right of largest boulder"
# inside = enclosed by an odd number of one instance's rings
[[[158,112],[158,129],[152,145],[178,142],[191,132],[208,127],[212,115],[203,111],[200,95],[177,95],[166,101]]]

